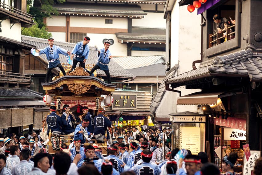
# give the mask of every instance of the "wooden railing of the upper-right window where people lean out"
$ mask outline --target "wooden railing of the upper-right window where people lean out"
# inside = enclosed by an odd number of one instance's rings
[[[226,28],[222,30],[222,35],[223,35],[223,33],[225,31],[227,32],[226,36],[221,36],[220,37],[220,33],[218,33],[218,31],[216,31],[215,34],[209,34],[209,48],[220,44],[221,43],[221,39],[225,39],[226,38],[227,41],[230,40],[230,35],[234,36],[234,34],[236,33],[236,31],[231,32],[230,29],[233,29],[235,26],[236,26],[236,24],[234,24],[232,26],[229,26],[229,27],[226,26]]]

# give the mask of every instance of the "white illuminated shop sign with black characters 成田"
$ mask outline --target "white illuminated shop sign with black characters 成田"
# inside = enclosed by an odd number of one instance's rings
[[[247,132],[235,128],[224,128],[224,140],[247,140]]]

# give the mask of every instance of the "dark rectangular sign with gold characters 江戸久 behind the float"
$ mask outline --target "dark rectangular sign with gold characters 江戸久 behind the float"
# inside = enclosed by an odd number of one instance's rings
[[[136,95],[113,94],[112,109],[136,109]]]

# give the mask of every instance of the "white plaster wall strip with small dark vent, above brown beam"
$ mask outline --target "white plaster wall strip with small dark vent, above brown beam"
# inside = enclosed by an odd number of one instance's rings
[[[113,19],[113,24],[106,24],[105,19]],[[70,26],[127,29],[127,18],[70,16]]]

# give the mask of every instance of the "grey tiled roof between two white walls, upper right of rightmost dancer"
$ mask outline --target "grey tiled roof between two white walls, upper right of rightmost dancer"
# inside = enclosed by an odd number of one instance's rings
[[[132,27],[132,33],[119,32],[115,35],[119,40],[130,42],[152,42],[152,44],[166,42],[166,29],[162,28]]]

